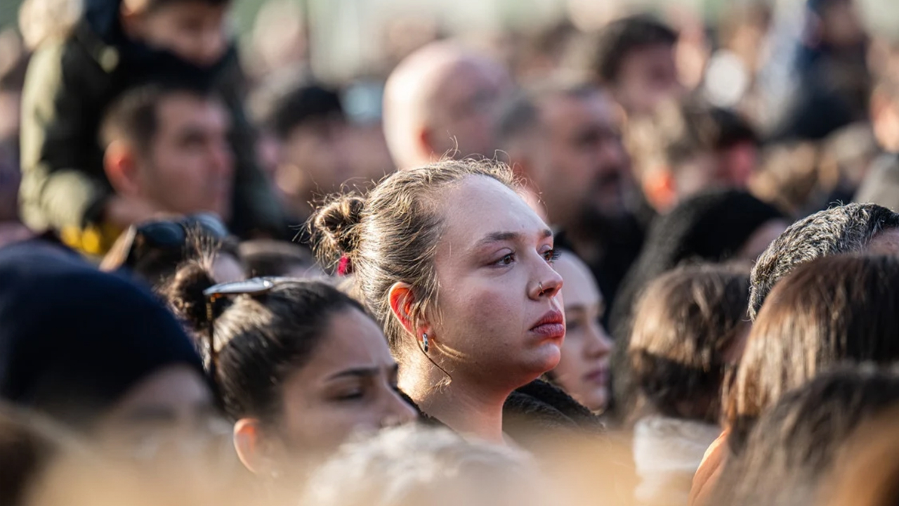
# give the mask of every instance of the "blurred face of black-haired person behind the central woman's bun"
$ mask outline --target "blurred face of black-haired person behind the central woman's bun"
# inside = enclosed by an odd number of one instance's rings
[[[335,114],[298,125],[284,142],[276,181],[306,213],[315,196],[339,191],[353,176],[347,158],[347,128]]]

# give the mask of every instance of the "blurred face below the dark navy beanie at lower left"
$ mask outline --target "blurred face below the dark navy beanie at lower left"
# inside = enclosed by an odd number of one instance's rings
[[[134,386],[101,421],[106,447],[140,459],[198,453],[227,434],[209,386],[189,366],[168,366]]]

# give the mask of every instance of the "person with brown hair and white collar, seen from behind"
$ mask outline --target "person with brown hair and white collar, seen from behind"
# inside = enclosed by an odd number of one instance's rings
[[[748,300],[748,266],[704,265],[657,278],[637,304],[628,357],[641,502],[687,501],[693,474],[721,433],[721,389],[749,331]]]

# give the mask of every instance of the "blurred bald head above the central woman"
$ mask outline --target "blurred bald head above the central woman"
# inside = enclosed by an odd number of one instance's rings
[[[397,167],[444,155],[493,158],[498,104],[508,86],[502,65],[453,42],[406,57],[384,91],[384,134]]]

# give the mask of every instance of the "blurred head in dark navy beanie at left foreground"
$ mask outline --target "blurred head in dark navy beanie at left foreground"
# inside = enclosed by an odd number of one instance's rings
[[[4,401],[133,456],[209,437],[200,358],[152,294],[33,244],[4,249],[0,287]]]

